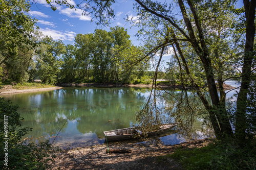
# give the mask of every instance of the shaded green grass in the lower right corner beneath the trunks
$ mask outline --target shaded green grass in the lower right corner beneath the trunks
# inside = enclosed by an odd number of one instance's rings
[[[231,143],[210,143],[203,148],[178,148],[167,157],[178,160],[185,169],[256,169],[256,150],[251,145],[240,148]]]

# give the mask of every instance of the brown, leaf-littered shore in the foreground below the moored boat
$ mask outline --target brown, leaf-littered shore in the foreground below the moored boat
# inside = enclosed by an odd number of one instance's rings
[[[51,169],[183,169],[167,155],[177,149],[205,147],[212,140],[200,139],[175,145],[145,143],[109,143],[91,147],[66,149],[56,154]],[[114,149],[131,150],[131,153],[109,154]]]

